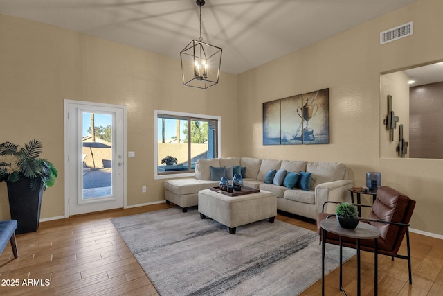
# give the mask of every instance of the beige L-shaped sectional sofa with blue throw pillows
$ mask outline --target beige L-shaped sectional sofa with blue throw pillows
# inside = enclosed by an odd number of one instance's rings
[[[165,181],[166,202],[177,204],[185,212],[188,207],[196,206],[199,191],[219,186],[222,168],[228,178],[233,175],[233,171],[238,173],[240,170],[244,186],[274,193],[277,197],[277,209],[291,214],[316,219],[323,202],[350,201],[347,189],[352,187],[352,180],[347,180],[347,168],[340,162],[230,157],[199,159],[195,164],[195,177]],[[302,176],[298,177],[296,184],[286,182],[286,176],[282,175],[287,174],[289,178],[288,172],[295,172],[296,175],[302,172],[305,176],[303,183],[300,184]],[[291,188],[293,185],[295,187]]]

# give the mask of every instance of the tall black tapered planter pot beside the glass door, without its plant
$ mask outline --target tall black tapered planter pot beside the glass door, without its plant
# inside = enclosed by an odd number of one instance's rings
[[[30,180],[21,177],[19,182],[7,183],[11,219],[18,222],[15,234],[36,232],[39,228],[43,183],[36,190],[30,189]]]

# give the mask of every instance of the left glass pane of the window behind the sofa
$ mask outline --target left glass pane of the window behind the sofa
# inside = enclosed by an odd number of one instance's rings
[[[157,168],[159,172],[188,171],[188,119],[159,116]]]

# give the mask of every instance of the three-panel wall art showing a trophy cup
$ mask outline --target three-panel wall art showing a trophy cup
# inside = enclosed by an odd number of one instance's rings
[[[263,103],[263,145],[329,144],[329,88]]]

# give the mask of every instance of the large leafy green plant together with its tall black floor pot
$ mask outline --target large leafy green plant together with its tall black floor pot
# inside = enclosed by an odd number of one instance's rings
[[[11,218],[18,222],[16,234],[37,231],[43,191],[57,178],[57,168],[40,157],[42,147],[35,139],[24,146],[0,144],[0,182],[8,186]]]

